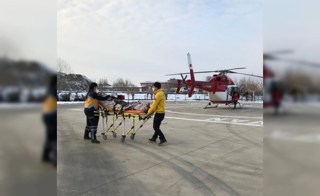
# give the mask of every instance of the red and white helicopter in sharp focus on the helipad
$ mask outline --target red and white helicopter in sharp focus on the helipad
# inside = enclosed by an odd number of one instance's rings
[[[239,95],[246,96],[249,94],[248,89],[245,87],[245,85],[241,84],[238,87],[237,85],[235,85],[233,80],[227,76],[228,73],[237,73],[231,70],[246,69],[246,68],[234,68],[234,69],[228,69],[228,70],[217,70],[217,71],[209,71],[209,72],[193,72],[190,53],[187,53],[187,59],[188,59],[188,68],[190,70],[190,73],[175,73],[175,74],[168,74],[168,75],[181,75],[182,77],[182,79],[177,79],[178,88],[176,93],[179,93],[182,84],[185,84],[186,87],[190,86],[190,90],[188,92],[189,98],[192,96],[194,88],[207,91],[210,102],[206,107],[204,107],[204,109],[217,107],[219,104],[228,105],[230,109],[233,109],[231,108],[230,105],[234,105],[234,100],[232,98],[234,93],[238,93],[238,98],[239,98]],[[213,76],[211,76],[211,78],[208,81],[195,81],[194,79],[194,73],[211,73],[211,72],[215,72],[218,74],[214,74]],[[187,79],[187,75],[184,77],[183,74],[190,74],[191,79]],[[246,73],[238,73],[238,74],[262,77],[262,76],[251,75]],[[240,102],[237,102],[237,103],[239,103],[240,105]],[[216,105],[208,107],[211,104],[216,104]],[[241,105],[239,108],[242,108]]]

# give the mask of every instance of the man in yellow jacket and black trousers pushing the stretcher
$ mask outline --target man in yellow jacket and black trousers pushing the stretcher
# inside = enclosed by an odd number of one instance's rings
[[[150,109],[148,110],[147,116],[150,116],[152,113],[156,112],[155,117],[153,119],[153,129],[155,130],[155,134],[152,138],[149,139],[150,142],[156,143],[157,138],[159,136],[160,143],[158,146],[161,146],[167,143],[162,131],[160,130],[160,124],[164,119],[164,111],[165,111],[165,96],[161,90],[160,82],[155,82],[152,85],[152,88],[155,92],[155,100],[153,101]]]

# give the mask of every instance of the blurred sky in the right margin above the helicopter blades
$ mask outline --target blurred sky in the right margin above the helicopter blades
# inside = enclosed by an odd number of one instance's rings
[[[277,55],[277,57],[320,64],[319,7],[319,0],[265,1],[264,51],[289,49],[292,53]],[[290,68],[308,73],[320,73],[320,68],[281,61],[267,61],[267,65],[275,72]]]

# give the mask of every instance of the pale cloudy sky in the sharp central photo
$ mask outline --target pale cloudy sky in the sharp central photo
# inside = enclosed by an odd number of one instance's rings
[[[194,72],[246,67],[239,72],[262,75],[263,1],[57,1],[57,57],[74,73],[166,81],[189,71],[188,52]]]

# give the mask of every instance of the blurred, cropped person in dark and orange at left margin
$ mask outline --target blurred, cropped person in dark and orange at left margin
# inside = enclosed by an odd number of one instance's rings
[[[46,125],[46,141],[42,153],[43,162],[52,162],[57,164],[56,155],[56,75],[51,77],[50,86],[43,104],[43,122]]]

